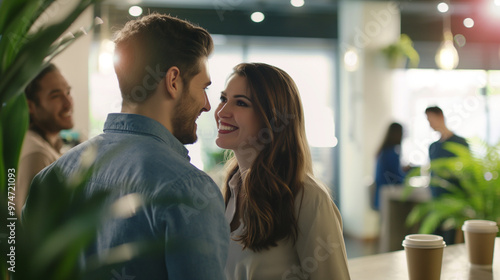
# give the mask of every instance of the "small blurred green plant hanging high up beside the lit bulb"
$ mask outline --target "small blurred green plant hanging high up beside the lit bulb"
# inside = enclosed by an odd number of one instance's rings
[[[420,62],[418,52],[413,48],[413,41],[406,34],[401,34],[399,40],[382,49],[391,68],[404,68],[409,62],[411,67],[417,67]]]

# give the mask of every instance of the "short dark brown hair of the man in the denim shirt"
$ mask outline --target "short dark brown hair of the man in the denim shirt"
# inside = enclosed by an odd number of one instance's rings
[[[173,66],[188,84],[201,71],[200,59],[213,50],[205,29],[158,13],[127,22],[115,44],[115,72],[124,103],[145,101]]]

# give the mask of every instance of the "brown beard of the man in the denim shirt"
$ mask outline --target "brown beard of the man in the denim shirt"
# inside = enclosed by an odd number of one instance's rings
[[[196,104],[196,100],[189,95],[189,89],[186,89],[174,109],[172,134],[182,144],[193,144],[198,140],[196,119],[200,114],[200,110],[195,108],[193,104]]]

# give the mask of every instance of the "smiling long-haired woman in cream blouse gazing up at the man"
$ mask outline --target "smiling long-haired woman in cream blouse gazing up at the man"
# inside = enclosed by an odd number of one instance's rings
[[[313,176],[299,92],[283,70],[242,63],[215,111],[234,152],[224,184],[228,279],[350,279],[342,219]]]

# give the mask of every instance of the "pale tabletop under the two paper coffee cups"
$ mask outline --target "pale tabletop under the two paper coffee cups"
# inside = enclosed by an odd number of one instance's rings
[[[352,280],[408,280],[404,250],[349,260]],[[500,280],[500,238],[495,240],[492,270],[471,267],[465,244],[444,249],[441,280]]]

